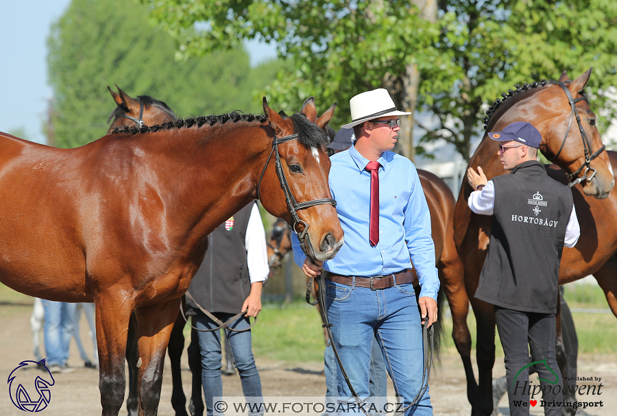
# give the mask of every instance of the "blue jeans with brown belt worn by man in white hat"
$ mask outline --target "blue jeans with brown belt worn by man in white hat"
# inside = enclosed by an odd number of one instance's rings
[[[422,326],[413,285],[372,291],[326,280],[326,310],[333,324],[333,341],[359,397],[370,395],[372,339],[376,337],[395,393],[409,405],[420,391],[424,367]],[[340,369],[337,387],[341,400],[353,402],[348,399],[351,392]],[[433,415],[428,389],[405,415]]]

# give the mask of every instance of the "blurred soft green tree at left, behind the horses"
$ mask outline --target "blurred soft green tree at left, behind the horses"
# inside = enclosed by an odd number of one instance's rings
[[[233,110],[261,114],[254,90],[274,77],[271,63],[253,73],[243,49],[176,60],[173,40],[149,24],[147,7],[130,1],[73,0],[48,44],[60,147],[105,134],[115,108],[106,86],[118,84],[132,97],[151,95],[187,118]]]

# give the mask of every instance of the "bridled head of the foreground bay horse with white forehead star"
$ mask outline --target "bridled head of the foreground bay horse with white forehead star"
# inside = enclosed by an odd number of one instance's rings
[[[307,256],[329,260],[343,245],[343,230],[328,187],[328,139],[315,124],[314,99],[307,99],[301,112],[285,119],[269,108],[265,98],[263,110],[274,142],[256,196],[266,210],[292,224]],[[274,163],[269,163],[273,154]]]

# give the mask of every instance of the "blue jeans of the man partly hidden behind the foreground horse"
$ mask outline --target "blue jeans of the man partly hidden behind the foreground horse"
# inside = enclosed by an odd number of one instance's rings
[[[215,317],[226,322],[235,314],[213,313]],[[195,327],[197,329],[217,328],[217,324],[206,315],[197,315]],[[247,317],[240,317],[230,324],[230,328],[242,330],[250,326]],[[232,350],[234,365],[240,375],[244,397],[256,397],[251,402],[263,402],[261,393],[261,379],[255,365],[255,358],[251,350],[251,331],[227,331],[227,339]],[[222,397],[223,382],[221,381],[221,334],[219,330],[211,332],[197,331],[199,350],[202,353],[202,385],[208,416],[222,415],[213,409],[213,397]],[[249,412],[249,415],[263,415],[263,408],[258,412]]]

